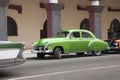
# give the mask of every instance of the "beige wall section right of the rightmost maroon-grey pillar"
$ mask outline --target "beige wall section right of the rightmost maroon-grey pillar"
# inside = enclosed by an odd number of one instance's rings
[[[101,6],[105,6],[102,12],[102,39],[107,39],[108,37],[108,28],[110,28],[110,24],[113,19],[118,19],[120,21],[120,12],[109,12],[108,7],[112,7],[114,9],[120,9],[120,0],[102,0]]]

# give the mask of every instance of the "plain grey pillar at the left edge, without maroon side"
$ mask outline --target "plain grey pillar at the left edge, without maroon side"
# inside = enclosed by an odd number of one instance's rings
[[[10,0],[0,0],[0,41],[7,41],[6,8]]]

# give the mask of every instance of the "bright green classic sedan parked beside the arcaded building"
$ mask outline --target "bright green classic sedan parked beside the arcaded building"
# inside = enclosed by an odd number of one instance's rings
[[[92,53],[99,56],[102,51],[108,49],[108,43],[96,38],[87,30],[62,30],[54,38],[44,38],[33,43],[32,52],[37,53],[38,58],[44,58],[46,54],[54,55],[60,59],[62,54]]]

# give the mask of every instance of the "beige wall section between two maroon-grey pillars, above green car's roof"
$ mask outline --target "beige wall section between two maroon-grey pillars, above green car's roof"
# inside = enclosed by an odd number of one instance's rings
[[[89,18],[88,11],[78,11],[77,5],[86,7],[90,5],[89,1],[83,0],[60,0],[64,4],[65,9],[61,12],[62,29],[80,28],[80,23],[84,18]]]

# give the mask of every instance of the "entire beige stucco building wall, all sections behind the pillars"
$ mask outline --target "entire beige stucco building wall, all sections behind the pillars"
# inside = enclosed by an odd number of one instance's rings
[[[107,7],[120,8],[120,1],[102,0],[100,5],[105,6],[102,12],[102,39],[107,39],[107,30],[111,21],[116,18],[120,21],[120,12],[108,12]],[[26,42],[26,47],[31,48],[32,42],[40,39],[40,29],[47,19],[46,10],[39,7],[39,3],[48,3],[48,0],[10,0],[10,4],[22,5],[22,14],[8,9],[7,15],[12,17],[18,26],[18,36],[9,36],[10,41]],[[78,11],[77,5],[86,7],[91,5],[88,0],[59,0],[64,4],[61,11],[62,29],[79,29],[84,18],[89,18],[88,11]]]

